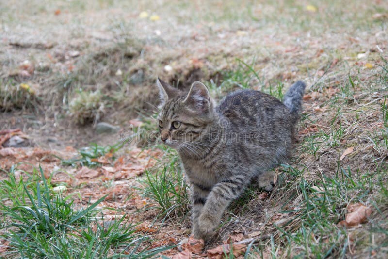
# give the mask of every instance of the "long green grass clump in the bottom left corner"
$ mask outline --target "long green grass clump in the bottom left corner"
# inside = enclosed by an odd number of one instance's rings
[[[96,207],[106,196],[76,210],[69,197],[52,191],[41,167],[39,171],[17,180],[12,168],[9,179],[0,182],[1,238],[8,242],[2,256],[148,258],[169,248],[141,248],[148,237],[124,217],[104,222]]]

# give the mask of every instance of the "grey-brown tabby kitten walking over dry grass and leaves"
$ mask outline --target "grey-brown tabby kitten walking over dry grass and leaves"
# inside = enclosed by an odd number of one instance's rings
[[[189,182],[192,234],[209,240],[229,203],[253,179],[275,186],[277,164],[287,163],[305,83],[297,81],[283,103],[268,94],[238,90],[217,106],[207,87],[195,81],[185,93],[157,80],[161,141],[178,151]]]

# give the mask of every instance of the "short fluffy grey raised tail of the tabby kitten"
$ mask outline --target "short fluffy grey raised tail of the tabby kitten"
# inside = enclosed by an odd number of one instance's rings
[[[306,84],[303,81],[294,83],[283,97],[283,104],[290,110],[295,122],[302,111],[302,99]]]

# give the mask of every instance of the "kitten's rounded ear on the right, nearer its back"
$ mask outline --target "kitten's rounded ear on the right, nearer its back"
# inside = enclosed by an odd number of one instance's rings
[[[200,81],[195,81],[183,103],[202,111],[209,109],[211,100],[208,88]]]

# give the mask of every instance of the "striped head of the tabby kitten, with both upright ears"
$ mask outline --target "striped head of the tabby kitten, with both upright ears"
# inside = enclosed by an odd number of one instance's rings
[[[214,105],[206,86],[195,81],[185,93],[158,78],[161,104],[158,127],[164,144],[180,148],[198,142],[214,120]]]

